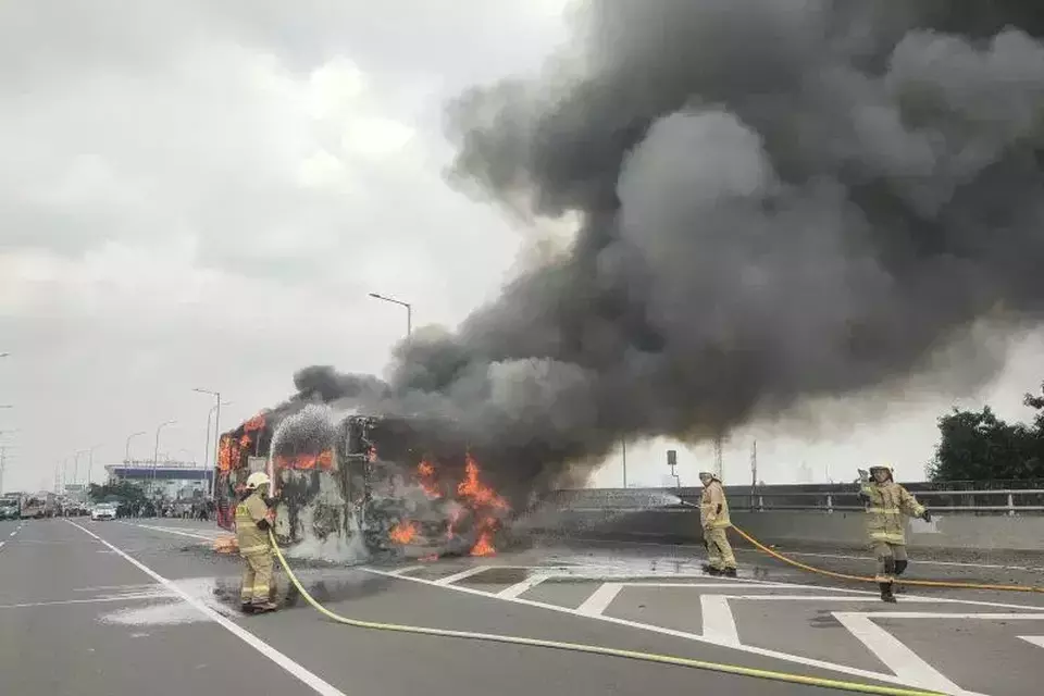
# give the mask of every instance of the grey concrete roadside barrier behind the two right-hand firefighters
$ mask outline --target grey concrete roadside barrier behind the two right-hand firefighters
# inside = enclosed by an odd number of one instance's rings
[[[732,520],[767,544],[866,548],[862,512],[736,510]],[[937,514],[931,523],[908,520],[910,548],[1044,551],[1044,517]],[[693,509],[547,509],[525,525],[544,533],[627,540],[701,544],[699,512]]]

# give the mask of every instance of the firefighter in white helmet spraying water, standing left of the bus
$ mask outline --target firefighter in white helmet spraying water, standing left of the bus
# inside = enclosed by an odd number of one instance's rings
[[[275,510],[270,509],[265,498],[270,483],[269,475],[263,471],[250,474],[243,499],[236,506],[236,539],[244,564],[239,600],[243,610],[248,613],[278,608],[272,601],[275,584],[269,529],[275,522]]]

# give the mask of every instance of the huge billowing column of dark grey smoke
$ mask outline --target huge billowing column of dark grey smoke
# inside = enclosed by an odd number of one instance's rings
[[[515,493],[623,435],[686,438],[902,381],[1044,306],[1044,11],[1027,2],[605,0],[579,55],[463,95],[452,178],[568,253],[388,384],[303,396],[450,423]],[[577,468],[570,464],[580,463]]]

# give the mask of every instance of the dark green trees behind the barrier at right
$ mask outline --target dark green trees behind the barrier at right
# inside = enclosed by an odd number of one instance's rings
[[[1044,478],[1044,385],[1027,394],[1029,423],[1007,423],[989,406],[981,411],[954,409],[939,419],[940,440],[929,463],[932,481]]]

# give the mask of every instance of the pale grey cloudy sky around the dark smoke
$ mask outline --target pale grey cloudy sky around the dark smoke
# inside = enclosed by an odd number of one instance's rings
[[[442,114],[471,85],[539,70],[563,4],[0,5],[4,487],[50,488],[91,445],[100,481],[130,433],[148,431],[133,455],[151,457],[169,419],[160,451],[201,463],[211,401],[192,387],[233,401],[227,425],[287,396],[306,364],[382,372],[405,316],[369,291],[446,325],[494,297],[533,236],[446,185]],[[991,389],[957,396],[1022,415],[1040,350],[1027,338]],[[819,405],[818,428],[736,434],[726,472],[748,478],[757,437],[768,481],[801,461],[817,478],[867,460],[918,477],[954,395],[891,394],[884,409]],[[632,481],[659,484],[668,446],[632,446]],[[680,458],[692,482],[709,450]]]

